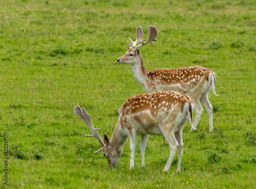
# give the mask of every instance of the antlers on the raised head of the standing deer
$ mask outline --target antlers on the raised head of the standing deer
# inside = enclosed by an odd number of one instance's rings
[[[157,36],[157,29],[156,29],[156,27],[155,27],[154,25],[150,25],[149,31],[150,31],[150,32],[149,32],[149,34],[148,34],[147,41],[144,42],[144,39],[141,39],[141,38],[143,37],[142,28],[141,28],[141,26],[138,26],[138,29],[137,29],[137,39],[136,39],[136,41],[133,42],[133,41],[131,40],[131,38],[129,38],[130,41],[131,41],[133,44],[131,44],[129,41],[127,41],[128,45],[129,45],[130,47],[133,47],[133,48],[140,48],[140,47],[146,45],[147,43],[150,43],[151,41],[157,41],[157,39],[155,39],[155,37]],[[139,32],[139,34],[138,34],[138,32]],[[141,32],[142,32],[142,33],[141,33]],[[141,38],[139,38],[139,37],[141,37]],[[136,46],[136,43],[138,43],[138,42],[141,43],[141,44]]]

